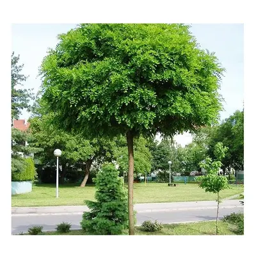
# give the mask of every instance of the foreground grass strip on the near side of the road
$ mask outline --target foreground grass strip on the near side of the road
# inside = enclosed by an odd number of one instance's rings
[[[219,221],[220,235],[236,235],[236,225]],[[202,221],[197,223],[184,224],[164,224],[159,232],[145,232],[141,227],[135,227],[136,235],[215,235],[215,221]],[[44,232],[43,235],[90,235],[83,230],[71,230],[68,233],[58,233],[57,231]],[[128,235],[125,230],[124,235]]]

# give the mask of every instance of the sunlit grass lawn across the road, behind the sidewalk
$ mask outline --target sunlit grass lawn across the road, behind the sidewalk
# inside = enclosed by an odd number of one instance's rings
[[[52,205],[84,205],[84,200],[94,200],[95,187],[80,188],[71,184],[60,185],[59,198],[55,198],[55,184],[33,186],[31,193],[12,195],[12,207],[52,206]],[[242,185],[232,185],[231,189],[220,192],[221,198],[243,193]],[[216,195],[205,193],[198,184],[178,184],[168,187],[166,183],[135,183],[134,204],[158,202],[186,202],[216,200]]]

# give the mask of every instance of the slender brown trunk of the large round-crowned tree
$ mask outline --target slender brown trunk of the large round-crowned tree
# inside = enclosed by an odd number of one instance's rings
[[[133,134],[128,131],[126,134],[129,158],[128,170],[128,216],[129,216],[129,235],[134,235],[134,212],[133,212],[133,173],[134,173],[134,155],[133,155]]]

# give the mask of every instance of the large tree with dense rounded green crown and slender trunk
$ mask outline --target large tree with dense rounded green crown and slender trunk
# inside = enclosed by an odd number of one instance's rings
[[[63,129],[126,136],[134,234],[134,138],[214,122],[223,68],[183,24],[81,24],[59,39],[40,68],[43,97]]]

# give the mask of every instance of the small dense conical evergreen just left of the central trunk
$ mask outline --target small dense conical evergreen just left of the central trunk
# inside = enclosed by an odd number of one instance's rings
[[[96,202],[85,201],[90,212],[84,212],[81,227],[94,234],[122,234],[128,227],[128,198],[122,178],[113,164],[106,164],[94,181]]]

